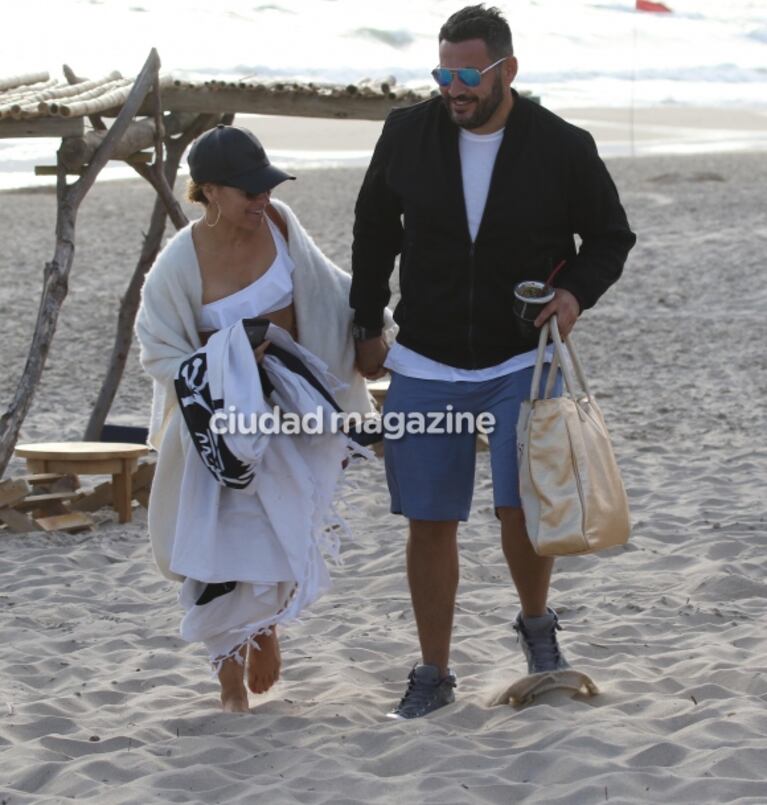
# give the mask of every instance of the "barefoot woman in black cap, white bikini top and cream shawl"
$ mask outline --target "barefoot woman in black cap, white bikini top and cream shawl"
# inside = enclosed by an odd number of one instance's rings
[[[219,125],[200,136],[189,167],[189,198],[202,205],[203,215],[159,255],[147,275],[136,326],[141,362],[154,381],[149,442],[159,451],[149,531],[160,570],[183,582],[182,636],[205,642],[224,710],[244,712],[245,682],[262,693],[279,676],[277,624],[327,589],[326,572],[316,561],[294,572],[299,554],[319,555],[318,540],[295,528],[281,535],[273,526],[266,481],[256,495],[217,487],[208,476],[190,486],[201,463],[174,387],[180,368],[223,333],[236,334],[242,320],[259,317],[281,328],[273,331],[288,341],[283,331],[289,333],[299,353],[310,362],[319,358],[345,384],[334,392],[341,408],[367,413],[371,405],[354,369],[350,278],[324,257],[290,208],[271,199],[275,186],[294,177],[270,164],[251,132],[234,126]],[[268,346],[255,350],[262,365]],[[255,364],[250,374],[260,374]],[[331,463],[336,466],[335,459]],[[318,475],[312,477],[320,483]],[[190,491],[199,488],[206,490],[202,509],[200,493]],[[307,488],[312,492],[303,497],[316,498],[313,487]],[[203,538],[204,526],[190,521],[190,511],[203,520],[212,511],[216,533]],[[301,522],[315,522],[317,514],[308,512]],[[249,563],[257,569],[245,578]]]

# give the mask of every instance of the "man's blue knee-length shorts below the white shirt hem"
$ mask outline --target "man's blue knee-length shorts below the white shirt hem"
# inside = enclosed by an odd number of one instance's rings
[[[546,364],[541,394],[548,370]],[[482,412],[492,414],[495,426],[488,441],[493,501],[496,508],[519,508],[517,418],[520,405],[530,396],[532,379],[532,366],[479,382],[419,380],[392,372],[384,420],[407,420],[414,412],[450,411],[453,416],[470,412],[475,417]],[[553,396],[561,393],[562,380],[558,377]],[[468,428],[462,433],[406,432],[402,438],[392,438],[397,433],[390,432],[384,439],[392,513],[410,520],[468,520],[474,491],[476,432]]]

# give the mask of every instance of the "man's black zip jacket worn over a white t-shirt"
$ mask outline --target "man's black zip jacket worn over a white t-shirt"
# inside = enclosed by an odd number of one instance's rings
[[[591,135],[514,92],[472,244],[458,135],[441,98],[386,119],[355,209],[350,303],[356,324],[380,328],[399,254],[397,340],[479,369],[535,346],[514,329],[517,282],[567,260],[554,284],[585,310],[620,277],[636,237]]]

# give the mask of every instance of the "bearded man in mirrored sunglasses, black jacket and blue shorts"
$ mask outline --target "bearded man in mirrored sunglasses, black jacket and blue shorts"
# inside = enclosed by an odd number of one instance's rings
[[[495,417],[493,497],[520,598],[514,628],[529,673],[567,667],[547,607],[552,560],[530,544],[516,466],[516,421],[535,340],[515,330],[513,288],[558,274],[540,327],[567,335],[621,274],[635,236],[590,134],[511,89],[511,32],[496,8],[468,6],[439,33],[440,97],[393,111],[356,206],[350,302],[357,364],[392,380],[386,412]],[[576,251],[574,235],[581,238]],[[400,255],[399,334],[387,355],[382,313]],[[458,585],[458,523],[474,482],[471,434],[387,440],[392,511],[409,519],[407,572],[422,664],[389,715],[415,718],[454,700],[448,667]]]

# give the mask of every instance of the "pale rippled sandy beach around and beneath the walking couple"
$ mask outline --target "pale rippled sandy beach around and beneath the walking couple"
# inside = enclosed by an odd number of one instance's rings
[[[405,523],[388,512],[380,462],[349,473],[353,538],[334,589],[283,632],[283,678],[251,697],[249,715],[219,712],[204,651],[179,638],[145,512],[121,526],[102,510],[91,533],[0,533],[3,805],[767,802],[767,155],[608,164],[639,239],[575,338],[633,535],[625,549],[560,560],[551,593],[568,659],[600,694],[488,705],[524,663],[487,453],[460,534],[457,700],[415,722],[384,718],[418,651]],[[347,269],[361,178],[306,171],[277,193]],[[0,198],[5,405],[53,254],[55,198]],[[138,181],[86,199],[23,440],[80,438],[152,202]],[[144,424],[149,395],[134,350],[110,420]],[[8,474],[22,469],[15,460]]]

